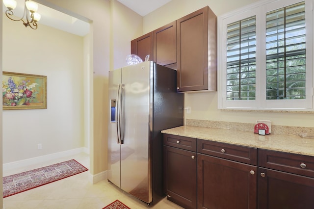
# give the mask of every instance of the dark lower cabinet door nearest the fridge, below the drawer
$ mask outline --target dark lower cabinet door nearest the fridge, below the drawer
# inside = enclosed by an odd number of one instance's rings
[[[185,209],[197,207],[197,156],[174,147],[164,146],[164,188],[168,200]]]

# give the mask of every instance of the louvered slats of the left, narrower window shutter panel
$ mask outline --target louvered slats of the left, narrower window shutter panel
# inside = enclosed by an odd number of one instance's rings
[[[255,100],[255,16],[227,26],[227,100]]]

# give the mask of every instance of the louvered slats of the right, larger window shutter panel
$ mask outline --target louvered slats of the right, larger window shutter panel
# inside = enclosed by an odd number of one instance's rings
[[[266,14],[266,99],[305,99],[305,2]]]

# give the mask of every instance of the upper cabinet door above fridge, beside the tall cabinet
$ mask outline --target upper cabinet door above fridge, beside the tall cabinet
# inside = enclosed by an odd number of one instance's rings
[[[176,21],[153,31],[154,61],[159,65],[177,62],[177,25]]]

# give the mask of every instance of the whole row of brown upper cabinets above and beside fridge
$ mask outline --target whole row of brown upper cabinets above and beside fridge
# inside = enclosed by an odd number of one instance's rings
[[[177,69],[178,92],[217,91],[217,17],[209,6],[131,41],[131,53]]]

